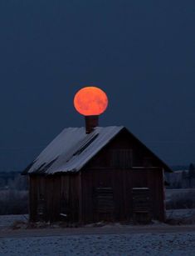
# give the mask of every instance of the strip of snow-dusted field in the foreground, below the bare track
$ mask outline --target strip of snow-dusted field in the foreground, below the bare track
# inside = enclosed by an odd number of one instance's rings
[[[175,255],[193,256],[193,233],[130,233],[1,238],[0,255]]]

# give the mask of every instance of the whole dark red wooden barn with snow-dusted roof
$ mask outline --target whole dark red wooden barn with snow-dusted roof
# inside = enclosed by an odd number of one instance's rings
[[[65,128],[23,172],[30,220],[163,222],[164,172],[127,128]]]

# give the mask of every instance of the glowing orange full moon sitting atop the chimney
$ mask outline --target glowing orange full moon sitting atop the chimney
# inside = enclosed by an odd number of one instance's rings
[[[74,106],[84,116],[100,115],[108,106],[108,98],[100,88],[85,87],[76,93]]]

